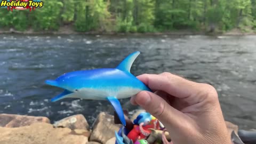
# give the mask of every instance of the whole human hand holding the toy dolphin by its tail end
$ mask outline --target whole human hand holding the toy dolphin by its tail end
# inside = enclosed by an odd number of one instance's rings
[[[131,103],[159,119],[173,144],[231,143],[213,86],[170,73],[137,78],[155,92],[141,91]]]

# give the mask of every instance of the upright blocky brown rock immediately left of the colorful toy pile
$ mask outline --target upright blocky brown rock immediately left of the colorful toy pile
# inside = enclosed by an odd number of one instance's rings
[[[109,139],[115,137],[115,131],[118,131],[121,126],[114,124],[114,116],[102,112],[93,124],[90,141],[105,144]]]

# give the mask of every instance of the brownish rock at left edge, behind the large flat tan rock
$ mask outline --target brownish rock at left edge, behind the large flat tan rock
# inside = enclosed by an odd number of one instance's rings
[[[0,114],[0,126],[3,126],[3,127],[28,126],[38,122],[50,123],[50,120],[47,117],[41,117],[41,116]]]

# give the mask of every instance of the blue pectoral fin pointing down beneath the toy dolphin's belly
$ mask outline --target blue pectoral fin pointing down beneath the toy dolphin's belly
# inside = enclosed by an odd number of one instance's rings
[[[125,122],[125,118],[124,118],[123,109],[122,109],[122,106],[121,106],[120,102],[118,101],[118,99],[116,99],[115,97],[107,97],[107,100],[114,107],[121,123],[125,126],[126,122]]]

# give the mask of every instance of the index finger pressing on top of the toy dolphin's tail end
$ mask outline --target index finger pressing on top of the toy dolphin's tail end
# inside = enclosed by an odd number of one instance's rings
[[[137,76],[137,78],[150,89],[161,90],[178,98],[186,98],[192,94],[196,95],[200,88],[199,83],[188,81],[185,78],[170,73],[159,75],[143,74]]]

